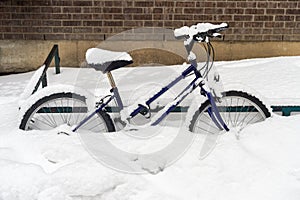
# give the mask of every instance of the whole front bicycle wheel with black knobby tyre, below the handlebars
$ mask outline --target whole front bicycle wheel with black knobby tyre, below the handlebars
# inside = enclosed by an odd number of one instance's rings
[[[256,97],[241,91],[223,93],[220,102],[216,102],[220,114],[229,129],[241,131],[249,124],[264,121],[271,114],[267,107]],[[218,134],[220,130],[210,118],[207,110],[211,107],[206,100],[194,113],[189,130],[195,133]]]

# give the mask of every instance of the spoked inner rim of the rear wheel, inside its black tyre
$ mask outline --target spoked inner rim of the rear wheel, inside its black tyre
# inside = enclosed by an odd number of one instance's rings
[[[76,98],[61,97],[48,100],[32,112],[25,125],[25,130],[50,130],[62,124],[73,126],[83,120],[87,116],[87,112],[86,103]],[[94,115],[80,129],[107,132],[100,113]]]

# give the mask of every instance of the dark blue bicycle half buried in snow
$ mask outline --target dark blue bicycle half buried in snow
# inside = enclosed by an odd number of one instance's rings
[[[207,86],[206,78],[213,66],[213,62],[210,63],[209,58],[212,57],[212,60],[214,60],[214,48],[210,43],[210,39],[221,37],[220,32],[227,28],[228,25],[226,23],[219,25],[199,23],[191,27],[184,26],[176,29],[174,35],[177,39],[184,40],[190,65],[175,80],[161,88],[159,92],[148,100],[127,108],[124,108],[112,71],[131,64],[133,62],[132,58],[125,52],[111,52],[96,48],[89,49],[86,57],[87,62],[89,66],[107,75],[111,86],[111,94],[98,101],[96,109],[92,112],[88,111],[86,98],[81,94],[63,91],[46,95],[36,101],[25,112],[19,128],[23,130],[47,130],[56,128],[61,124],[68,124],[73,126],[73,132],[76,132],[78,129],[93,132],[114,132],[116,131],[116,121],[126,126],[137,115],[149,117],[151,114],[151,103],[178,82],[191,75],[194,75],[194,79],[173,101],[156,114],[149,125],[158,125],[196,88],[200,89],[199,94],[206,97],[206,101],[198,109],[190,111],[194,113],[189,125],[191,132],[218,133],[229,131],[231,128],[236,127],[242,129],[248,124],[263,121],[270,116],[270,112],[258,98],[246,92],[233,90],[223,92],[221,96],[218,96],[214,93],[214,90],[210,90]],[[198,69],[196,55],[192,52],[196,42],[204,45],[208,58],[205,65],[200,69]],[[103,55],[105,56],[103,57]],[[114,57],[118,59],[111,59]],[[215,78],[218,79],[218,77]],[[121,113],[121,119],[113,121],[108,114],[107,106],[112,101],[116,102],[117,111]]]

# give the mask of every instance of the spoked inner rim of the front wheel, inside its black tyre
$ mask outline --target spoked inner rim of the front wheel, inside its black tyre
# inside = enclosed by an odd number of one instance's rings
[[[266,119],[266,115],[262,109],[245,97],[225,96],[222,98],[222,102],[216,102],[216,104],[229,129],[234,128],[241,131],[249,124],[261,122]],[[221,132],[207,112],[209,107],[210,104],[207,103],[202,112],[199,113],[192,127],[192,132],[204,134]]]

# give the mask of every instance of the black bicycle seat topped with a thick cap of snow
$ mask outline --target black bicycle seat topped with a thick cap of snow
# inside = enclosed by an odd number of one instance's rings
[[[91,48],[86,52],[86,61],[89,66],[102,73],[106,73],[133,63],[127,52],[108,51]]]

